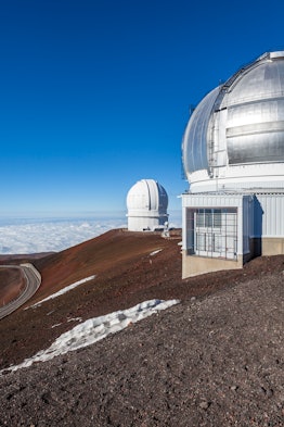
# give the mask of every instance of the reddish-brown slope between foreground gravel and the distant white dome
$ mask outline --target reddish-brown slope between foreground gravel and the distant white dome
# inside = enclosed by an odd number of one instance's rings
[[[0,322],[0,368],[48,348],[75,326],[78,317],[85,321],[154,298],[186,301],[284,268],[281,255],[260,258],[241,271],[182,280],[180,238],[180,230],[173,231],[171,239],[164,239],[160,234],[117,229],[63,252],[34,258],[42,275],[42,286],[25,306]],[[96,277],[64,296],[28,309],[59,289],[92,275]]]

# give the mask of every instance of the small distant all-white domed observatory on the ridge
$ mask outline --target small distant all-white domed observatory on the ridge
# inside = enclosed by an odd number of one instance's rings
[[[168,194],[154,179],[141,179],[127,194],[128,230],[155,231],[168,222]]]

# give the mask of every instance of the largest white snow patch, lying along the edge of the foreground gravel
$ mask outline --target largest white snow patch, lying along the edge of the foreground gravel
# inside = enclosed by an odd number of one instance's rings
[[[105,316],[89,318],[80,325],[75,326],[69,331],[62,334],[47,350],[41,350],[30,359],[26,359],[20,365],[10,366],[3,371],[17,371],[22,367],[28,367],[35,362],[47,362],[55,356],[75,351],[80,348],[91,346],[92,343],[107,337],[109,334],[118,332],[129,324],[149,317],[154,313],[178,304],[179,300],[150,300],[134,305],[128,310],[106,314]],[[0,374],[3,373],[0,371]]]

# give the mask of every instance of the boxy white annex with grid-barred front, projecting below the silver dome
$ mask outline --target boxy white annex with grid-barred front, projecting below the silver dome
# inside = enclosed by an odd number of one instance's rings
[[[254,197],[189,193],[182,202],[182,277],[242,268],[255,246]]]

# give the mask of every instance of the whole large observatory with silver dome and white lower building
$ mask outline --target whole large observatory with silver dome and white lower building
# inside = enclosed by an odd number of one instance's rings
[[[182,141],[183,278],[284,253],[284,51],[210,91]]]

